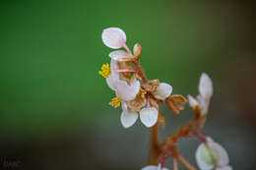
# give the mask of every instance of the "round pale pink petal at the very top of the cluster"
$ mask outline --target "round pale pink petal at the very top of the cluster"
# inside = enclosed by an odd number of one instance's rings
[[[105,28],[101,36],[103,43],[109,48],[118,49],[126,43],[126,35],[121,28]]]

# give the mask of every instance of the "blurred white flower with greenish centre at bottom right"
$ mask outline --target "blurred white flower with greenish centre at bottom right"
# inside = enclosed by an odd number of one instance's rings
[[[224,147],[212,139],[207,139],[207,143],[201,143],[198,146],[196,161],[201,170],[223,170],[220,168],[230,168],[230,166],[227,166],[229,158]]]

